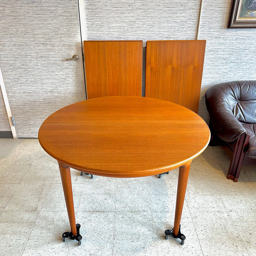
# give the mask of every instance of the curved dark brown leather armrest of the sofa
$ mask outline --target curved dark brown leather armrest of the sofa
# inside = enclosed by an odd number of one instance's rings
[[[220,139],[234,142],[246,132],[243,125],[234,116],[227,95],[220,88],[212,86],[206,91],[205,104],[212,127]]]

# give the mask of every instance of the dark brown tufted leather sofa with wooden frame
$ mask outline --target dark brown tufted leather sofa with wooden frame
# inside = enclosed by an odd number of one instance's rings
[[[256,164],[256,81],[216,84],[206,91],[205,103],[210,145],[218,142],[230,157],[227,178],[236,182],[242,164]]]

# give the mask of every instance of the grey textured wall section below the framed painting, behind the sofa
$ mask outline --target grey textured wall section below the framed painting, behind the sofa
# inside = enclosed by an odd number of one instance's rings
[[[256,78],[256,28],[227,28],[232,0],[204,0],[199,39],[206,39],[198,114],[208,122],[204,93],[214,84]]]

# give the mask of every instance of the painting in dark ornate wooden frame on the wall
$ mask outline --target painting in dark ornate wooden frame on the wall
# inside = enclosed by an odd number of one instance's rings
[[[228,28],[256,28],[256,0],[234,0]]]

